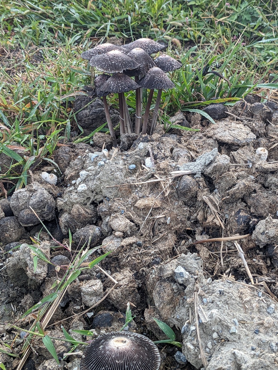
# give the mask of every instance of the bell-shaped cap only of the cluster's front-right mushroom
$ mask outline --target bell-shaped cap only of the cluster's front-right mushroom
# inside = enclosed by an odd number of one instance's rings
[[[175,87],[166,73],[158,67],[150,68],[145,77],[138,81],[138,85],[150,90],[172,89]]]

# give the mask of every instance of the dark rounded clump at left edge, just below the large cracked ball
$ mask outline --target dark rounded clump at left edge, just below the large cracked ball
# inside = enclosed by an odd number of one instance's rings
[[[18,242],[25,233],[25,229],[20,225],[16,217],[4,217],[0,219],[0,242]]]

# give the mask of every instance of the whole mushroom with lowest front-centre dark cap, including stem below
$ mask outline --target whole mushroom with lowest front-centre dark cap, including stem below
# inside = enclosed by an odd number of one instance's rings
[[[137,64],[137,63],[136,63]],[[113,92],[118,93],[119,96],[119,110],[120,110],[120,134],[124,134],[125,132],[132,133],[131,125],[127,124],[128,127],[125,128],[125,120],[124,120],[124,102],[125,102],[125,94],[124,92],[128,92],[130,90],[138,89],[140,86],[136,84],[129,76],[123,73],[114,73],[106,83],[102,86],[102,90],[106,92]]]

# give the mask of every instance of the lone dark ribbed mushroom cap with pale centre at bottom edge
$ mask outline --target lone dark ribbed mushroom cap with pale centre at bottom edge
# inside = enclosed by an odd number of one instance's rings
[[[156,345],[142,334],[112,332],[100,335],[86,347],[80,370],[158,370]]]

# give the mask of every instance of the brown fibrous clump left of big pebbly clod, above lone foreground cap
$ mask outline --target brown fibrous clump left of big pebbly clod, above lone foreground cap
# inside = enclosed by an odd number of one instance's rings
[[[133,277],[132,271],[129,269],[123,269],[121,272],[113,273],[112,277],[118,282],[118,284],[107,297],[109,302],[123,312],[126,311],[128,302],[133,303],[133,305],[138,307],[140,304],[138,282]]]

